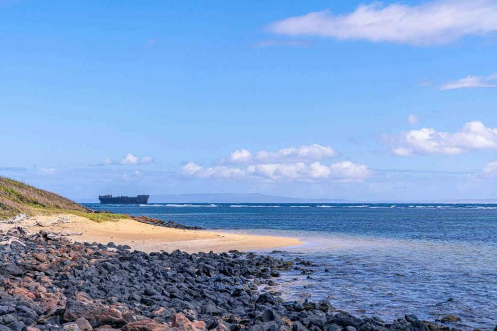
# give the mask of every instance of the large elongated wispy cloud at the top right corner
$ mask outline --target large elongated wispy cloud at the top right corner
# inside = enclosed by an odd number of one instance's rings
[[[316,35],[412,45],[445,44],[464,36],[497,31],[495,0],[434,0],[410,6],[360,4],[353,12],[311,12],[272,23],[269,30],[292,36]]]

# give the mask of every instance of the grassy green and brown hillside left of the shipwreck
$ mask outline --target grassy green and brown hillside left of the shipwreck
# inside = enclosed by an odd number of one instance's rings
[[[29,216],[67,213],[84,216],[97,222],[126,217],[120,214],[95,213],[58,194],[0,176],[0,220],[19,213]]]

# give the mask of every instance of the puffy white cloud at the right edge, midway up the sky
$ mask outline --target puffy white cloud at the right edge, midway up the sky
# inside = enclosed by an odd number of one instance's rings
[[[397,156],[461,154],[471,150],[497,149],[497,128],[488,128],[481,121],[472,121],[456,133],[422,128],[401,132],[388,140]]]

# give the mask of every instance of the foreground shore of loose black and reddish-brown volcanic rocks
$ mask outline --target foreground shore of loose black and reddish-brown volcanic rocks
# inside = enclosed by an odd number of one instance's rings
[[[281,272],[319,267],[310,262],[238,251],[147,254],[22,228],[0,237],[0,331],[451,330],[413,315],[361,319],[272,291]]]

